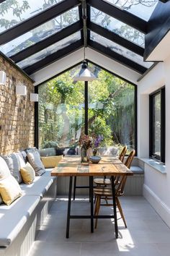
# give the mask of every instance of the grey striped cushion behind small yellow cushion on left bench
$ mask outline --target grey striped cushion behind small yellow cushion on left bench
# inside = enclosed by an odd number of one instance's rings
[[[14,176],[15,179],[17,179],[17,182],[22,182],[22,176],[20,174],[20,168],[25,166],[24,158],[22,157],[22,153],[12,153],[11,155],[2,155],[4,158],[4,161],[6,161],[9,170]]]

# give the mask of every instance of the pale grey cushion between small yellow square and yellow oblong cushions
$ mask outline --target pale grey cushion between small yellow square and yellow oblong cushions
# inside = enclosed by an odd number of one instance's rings
[[[27,153],[27,158],[29,163],[34,168],[36,176],[41,176],[45,173],[45,167],[42,164],[38,151]]]

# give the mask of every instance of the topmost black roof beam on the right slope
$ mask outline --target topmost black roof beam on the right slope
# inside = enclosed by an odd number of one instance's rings
[[[130,12],[126,12],[125,10],[115,7],[114,5],[103,0],[89,0],[88,4],[117,20],[120,20],[121,22],[124,22],[137,30],[140,30],[142,33],[147,33],[147,22],[131,14]]]

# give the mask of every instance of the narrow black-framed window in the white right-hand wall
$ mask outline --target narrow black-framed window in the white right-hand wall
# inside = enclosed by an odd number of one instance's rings
[[[150,156],[165,162],[165,88],[150,95]]]

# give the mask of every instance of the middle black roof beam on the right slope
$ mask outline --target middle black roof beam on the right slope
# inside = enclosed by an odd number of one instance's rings
[[[112,40],[113,42],[120,44],[120,46],[128,48],[130,51],[135,52],[135,54],[139,54],[140,56],[143,56],[144,54],[143,47],[140,47],[137,44],[122,38],[120,35],[117,35],[116,33],[95,24],[94,22],[89,22],[88,28],[97,34],[104,36],[104,38]]]

